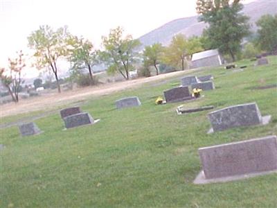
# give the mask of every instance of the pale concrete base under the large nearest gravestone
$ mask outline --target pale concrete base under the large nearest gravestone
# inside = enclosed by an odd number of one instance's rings
[[[217,178],[211,178],[207,179],[205,177],[204,171],[201,171],[195,180],[193,181],[194,184],[211,184],[211,183],[220,183],[220,182],[230,182],[234,180],[244,180],[249,177],[256,177],[259,175],[268,175],[272,173],[277,173],[277,169],[274,171],[263,171],[260,173],[249,173],[249,174],[243,174],[243,175],[234,175],[234,176],[228,176],[228,177],[217,177]]]

